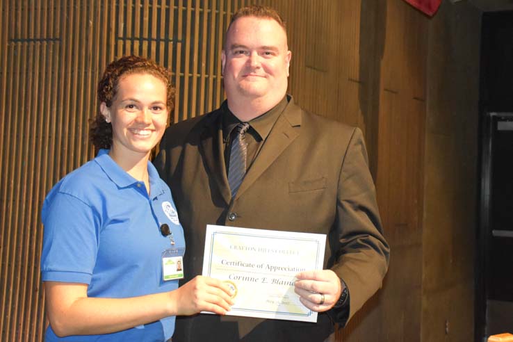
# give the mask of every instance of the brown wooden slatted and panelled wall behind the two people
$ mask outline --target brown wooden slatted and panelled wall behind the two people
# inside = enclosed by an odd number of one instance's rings
[[[138,54],[170,68],[174,122],[210,111],[223,99],[229,15],[247,3],[288,21],[296,101],[366,135],[391,267],[336,340],[421,341],[428,17],[403,0],[0,0],[1,341],[42,341],[40,208],[93,156],[88,120],[106,64]]]

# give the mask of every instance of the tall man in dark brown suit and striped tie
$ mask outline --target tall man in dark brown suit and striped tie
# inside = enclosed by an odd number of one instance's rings
[[[291,51],[275,10],[239,10],[221,58],[227,101],[169,127],[155,161],[184,226],[186,280],[202,272],[207,224],[327,234],[325,269],[301,272],[295,283],[301,302],[320,314],[317,323],[179,318],[173,341],[325,341],[388,268],[361,131],[311,115],[286,95]],[[247,156],[234,163],[241,150]]]

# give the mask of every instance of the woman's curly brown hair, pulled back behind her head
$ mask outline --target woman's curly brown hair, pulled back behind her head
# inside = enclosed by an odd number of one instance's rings
[[[168,107],[168,113],[172,113],[174,87],[171,83],[171,72],[156,64],[153,60],[139,56],[124,56],[107,65],[104,75],[98,82],[98,104],[105,102],[107,107],[112,106],[120,79],[129,74],[150,74],[163,81],[167,88],[166,106]],[[112,124],[106,122],[104,115],[101,115],[101,113],[97,113],[90,123],[89,138],[95,149],[110,149],[112,145]]]

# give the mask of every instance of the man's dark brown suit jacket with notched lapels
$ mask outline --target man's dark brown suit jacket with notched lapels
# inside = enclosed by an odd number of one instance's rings
[[[173,341],[324,341],[380,288],[389,262],[361,131],[312,115],[291,97],[230,195],[220,110],[174,124],[155,165],[186,235],[186,279],[202,272],[207,224],[327,234],[325,268],[348,286],[349,310],[318,323],[197,315],[177,320]],[[349,311],[349,312],[347,312]]]

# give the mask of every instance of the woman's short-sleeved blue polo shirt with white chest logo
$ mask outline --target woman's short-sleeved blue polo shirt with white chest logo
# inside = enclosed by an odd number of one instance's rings
[[[151,193],[102,149],[95,159],[67,174],[51,189],[42,208],[43,282],[88,284],[88,296],[128,298],[178,288],[163,281],[162,252],[171,247],[161,234],[166,223],[177,248],[185,248],[170,188],[148,162]],[[136,309],[136,308],[134,308]],[[174,316],[122,332],[46,341],[167,341]]]

